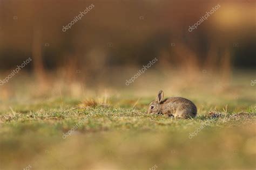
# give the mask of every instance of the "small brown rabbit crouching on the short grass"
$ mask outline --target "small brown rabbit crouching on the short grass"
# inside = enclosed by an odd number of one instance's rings
[[[193,102],[183,97],[170,97],[164,100],[164,92],[160,90],[156,100],[149,104],[147,113],[192,118],[197,115],[197,107]]]

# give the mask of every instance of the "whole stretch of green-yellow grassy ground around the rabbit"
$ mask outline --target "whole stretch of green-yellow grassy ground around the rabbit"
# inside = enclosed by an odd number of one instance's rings
[[[145,114],[154,94],[123,90],[84,100],[64,92],[33,96],[25,87],[1,103],[0,169],[256,167],[255,91],[247,83],[219,92],[177,90],[196,103],[194,119]]]

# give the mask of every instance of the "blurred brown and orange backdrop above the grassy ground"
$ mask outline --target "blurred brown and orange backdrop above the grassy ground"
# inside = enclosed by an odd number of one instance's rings
[[[94,8],[62,31],[91,4]],[[207,20],[188,31],[218,4]],[[153,94],[162,88],[178,95],[184,86],[198,87],[203,80],[207,89],[205,82],[225,88],[240,74],[250,75],[250,86],[255,51],[255,1],[250,0],[0,1],[1,79],[32,59],[0,87],[1,100],[17,97],[13,86],[24,84],[36,96],[59,88],[74,97],[93,88],[92,94],[133,87],[143,93],[145,84]],[[156,64],[125,86],[154,58]]]

